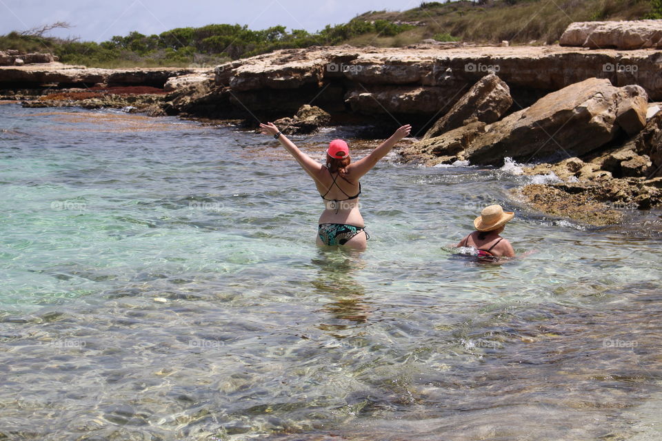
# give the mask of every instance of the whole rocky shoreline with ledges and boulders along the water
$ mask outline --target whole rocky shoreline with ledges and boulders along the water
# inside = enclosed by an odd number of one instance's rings
[[[387,133],[411,122],[420,139],[401,150],[403,161],[499,166],[509,156],[532,164],[523,174],[552,176],[552,183],[516,189],[514,198],[543,213],[610,225],[625,210],[662,205],[655,26],[637,24],[649,34],[636,40],[623,37],[622,23],[573,23],[561,41],[584,47],[313,47],[214,70],[3,66],[0,100],[244,119],[248,128],[279,119],[285,133],[347,121]],[[592,35],[628,49],[592,48]]]

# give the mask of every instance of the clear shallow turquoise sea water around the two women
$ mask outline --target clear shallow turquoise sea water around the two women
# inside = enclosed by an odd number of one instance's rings
[[[9,439],[662,436],[659,212],[584,229],[512,200],[523,176],[390,155],[362,181],[368,250],[324,250],[266,136],[17,105],[0,128]],[[490,203],[533,254],[443,248]]]

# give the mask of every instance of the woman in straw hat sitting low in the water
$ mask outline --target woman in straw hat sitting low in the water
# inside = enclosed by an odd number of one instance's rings
[[[483,208],[481,215],[474,219],[476,231],[460,240],[455,246],[472,248],[474,249],[472,255],[483,259],[514,257],[515,251],[510,242],[499,236],[505,224],[514,216],[513,212],[504,212],[501,205]]]

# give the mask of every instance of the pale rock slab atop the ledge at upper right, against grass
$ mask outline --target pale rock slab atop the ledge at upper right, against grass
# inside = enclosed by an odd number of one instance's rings
[[[570,23],[561,35],[562,46],[592,49],[662,48],[661,20],[581,21]]]

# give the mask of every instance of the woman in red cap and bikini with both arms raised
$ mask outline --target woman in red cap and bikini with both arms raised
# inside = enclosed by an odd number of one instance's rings
[[[324,200],[325,209],[319,216],[317,245],[345,245],[365,249],[368,234],[359,212],[359,179],[368,173],[377,161],[386,156],[398,141],[408,136],[411,125],[403,125],[389,139],[381,143],[368,156],[352,163],[350,150],[341,139],[335,139],[326,151],[326,164],[322,165],[301,152],[273,123],[260,124],[263,134],[277,139],[290,152],[299,165],[315,181]]]

